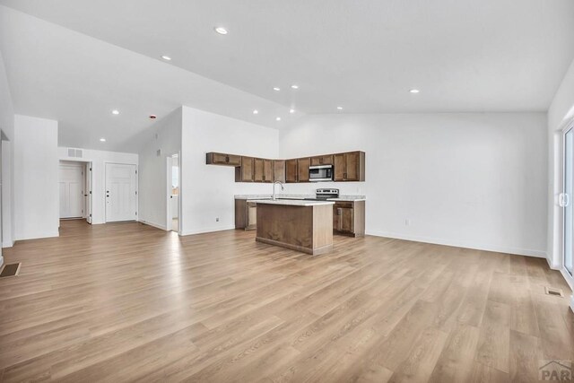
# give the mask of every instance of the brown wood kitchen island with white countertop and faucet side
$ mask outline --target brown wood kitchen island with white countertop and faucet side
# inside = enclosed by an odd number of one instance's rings
[[[308,254],[333,249],[332,201],[257,199],[257,237],[264,242]]]

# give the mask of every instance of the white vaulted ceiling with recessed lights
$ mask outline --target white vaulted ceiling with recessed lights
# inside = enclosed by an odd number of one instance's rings
[[[544,111],[574,58],[571,0],[0,4],[23,12],[3,8],[0,26],[15,108],[69,119],[71,143],[81,116],[101,128],[121,108],[137,130],[182,103],[272,127],[300,113]]]

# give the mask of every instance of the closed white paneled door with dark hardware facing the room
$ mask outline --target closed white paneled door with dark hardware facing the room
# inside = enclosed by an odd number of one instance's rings
[[[106,222],[135,221],[136,177],[135,165],[106,164]]]

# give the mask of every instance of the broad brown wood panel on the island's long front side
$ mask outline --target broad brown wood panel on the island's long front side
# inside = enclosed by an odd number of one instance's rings
[[[258,204],[256,239],[313,254],[314,207]]]

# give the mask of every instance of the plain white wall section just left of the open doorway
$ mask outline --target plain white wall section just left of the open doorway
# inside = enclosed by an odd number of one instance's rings
[[[57,237],[57,121],[14,118],[14,240]]]

